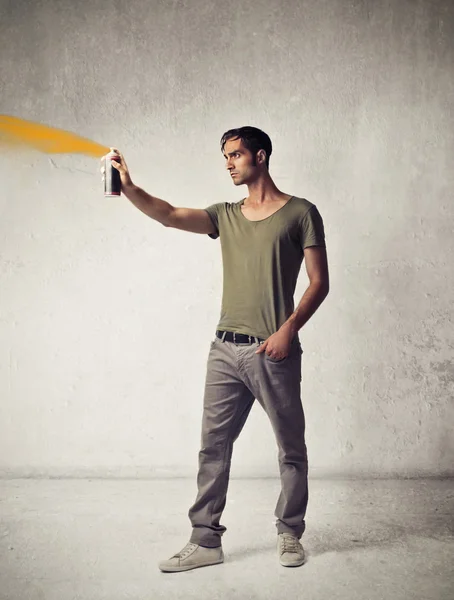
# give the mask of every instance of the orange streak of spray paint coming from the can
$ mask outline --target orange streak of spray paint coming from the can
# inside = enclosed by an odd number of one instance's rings
[[[110,151],[110,148],[70,131],[8,115],[0,115],[0,145],[27,146],[46,154],[86,154],[95,158]]]

